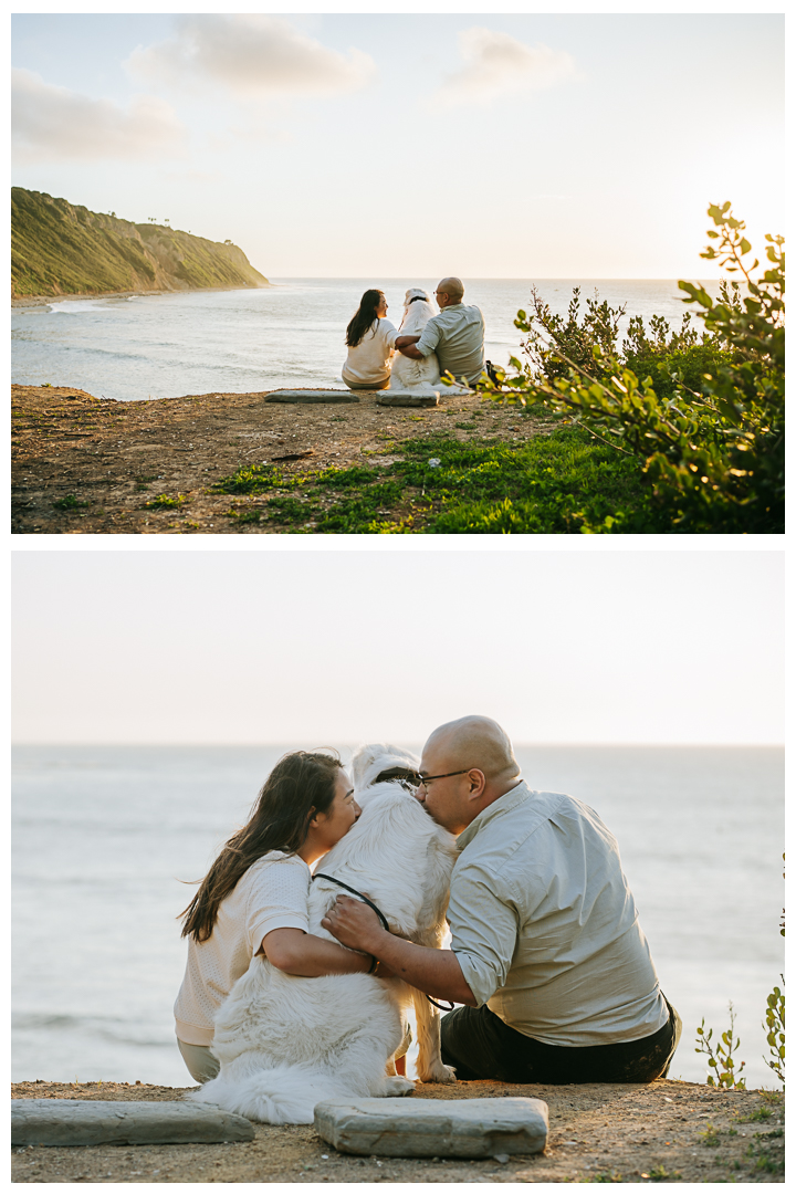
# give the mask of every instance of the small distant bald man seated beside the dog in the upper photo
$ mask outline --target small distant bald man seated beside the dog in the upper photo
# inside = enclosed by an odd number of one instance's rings
[[[439,315],[433,315],[421,336],[399,336],[395,347],[405,357],[425,361],[437,353],[439,369],[456,381],[476,382],[485,371],[483,315],[477,307],[465,307],[461,278],[443,278],[434,290]]]

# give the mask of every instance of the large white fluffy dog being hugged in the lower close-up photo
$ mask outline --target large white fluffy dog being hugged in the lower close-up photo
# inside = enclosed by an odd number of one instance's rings
[[[390,930],[439,948],[444,934],[455,838],[426,813],[400,778],[419,761],[393,746],[364,746],[352,761],[362,817],[317,869],[366,892]],[[310,887],[309,931],[321,927],[343,888],[326,879]],[[401,979],[369,974],[297,978],[264,955],[234,985],[215,1020],[216,1078],[189,1097],[266,1124],[311,1124],[325,1098],[409,1094],[395,1072],[403,1015],[414,1002],[421,1082],[455,1082],[439,1053],[439,1013]]]

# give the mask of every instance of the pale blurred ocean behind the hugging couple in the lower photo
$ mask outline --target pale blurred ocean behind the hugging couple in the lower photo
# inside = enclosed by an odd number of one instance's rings
[[[177,917],[290,749],[14,749],[14,1081],[190,1084],[172,1018]],[[732,999],[748,1085],[778,1089],[760,1024],[783,968],[783,752],[526,746],[518,758],[531,787],[586,801],[619,842],[683,1018],[669,1077],[705,1081],[696,1029],[704,1016],[718,1038]]]

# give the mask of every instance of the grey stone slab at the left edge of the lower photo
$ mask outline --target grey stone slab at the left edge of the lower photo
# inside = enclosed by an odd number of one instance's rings
[[[94,1102],[12,1098],[11,1143],[63,1147],[85,1144],[222,1144],[253,1140],[242,1115],[190,1102]]]

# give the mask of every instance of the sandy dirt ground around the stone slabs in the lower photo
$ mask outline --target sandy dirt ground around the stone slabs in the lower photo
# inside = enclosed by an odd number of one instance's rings
[[[13,1098],[173,1101],[183,1088],[21,1082]],[[418,1085],[414,1098],[543,1098],[538,1156],[494,1159],[353,1157],[311,1127],[255,1126],[241,1144],[12,1150],[14,1182],[784,1182],[784,1096],[689,1082],[543,1087]]]

